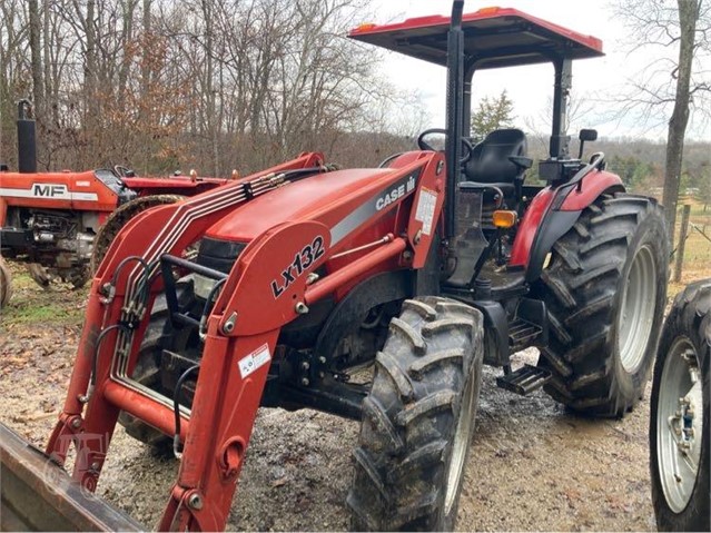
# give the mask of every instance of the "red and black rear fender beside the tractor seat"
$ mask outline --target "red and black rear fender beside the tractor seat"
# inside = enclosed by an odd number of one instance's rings
[[[514,240],[510,267],[525,268],[526,283],[535,282],[546,255],[580,218],[581,213],[605,193],[623,193],[619,176],[604,170],[586,175],[579,184],[544,188],[529,206]]]

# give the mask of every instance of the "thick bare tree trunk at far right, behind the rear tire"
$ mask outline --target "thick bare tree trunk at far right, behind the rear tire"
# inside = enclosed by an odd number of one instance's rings
[[[677,0],[679,3],[679,67],[677,69],[677,95],[674,111],[669,121],[666,138],[666,164],[664,168],[664,194],[662,204],[666,209],[666,224],[670,228],[672,247],[677,223],[677,203],[681,181],[684,136],[689,124],[690,80],[694,52],[694,37],[699,19],[699,0]]]

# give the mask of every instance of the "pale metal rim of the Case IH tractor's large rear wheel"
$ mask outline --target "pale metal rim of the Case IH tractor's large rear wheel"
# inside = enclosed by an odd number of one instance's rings
[[[656,306],[656,268],[654,255],[649,246],[642,247],[632,260],[624,284],[622,306],[618,318],[618,347],[622,367],[634,373],[649,344]]]

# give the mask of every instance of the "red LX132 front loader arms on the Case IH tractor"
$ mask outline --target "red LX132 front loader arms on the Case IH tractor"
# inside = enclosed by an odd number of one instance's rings
[[[124,411],[176,435],[176,450],[184,443],[178,480],[159,527],[224,529],[282,327],[368,276],[424,265],[444,204],[443,160],[436,152],[409,152],[385,169],[325,176],[330,169],[320,156],[305,156],[134,218],[93,279],[69,393],[47,453],[63,464],[73,444],[80,457],[73,478],[92,491]],[[302,211],[255,235],[229,273],[179,257],[217,223],[245,217],[249,206],[265,201],[266,219],[278,198],[310,191],[314,184],[327,189],[324,179],[332,182],[332,196],[307,194]],[[354,236],[364,228],[379,231],[376,221],[382,218],[394,225],[389,233],[356,246]],[[347,260],[332,260],[336,254],[346,254]],[[174,268],[209,274],[220,284],[205,315],[192,405],[179,407],[177,422],[172,398],[131,378],[154,299],[165,292],[169,307],[176,304]],[[322,274],[314,277],[316,270]],[[190,320],[174,309],[171,317]]]

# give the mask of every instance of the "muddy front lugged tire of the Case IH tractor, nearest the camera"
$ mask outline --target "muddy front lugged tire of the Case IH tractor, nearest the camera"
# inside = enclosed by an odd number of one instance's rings
[[[446,298],[406,300],[363,404],[356,531],[451,531],[482,376],[483,319]]]

